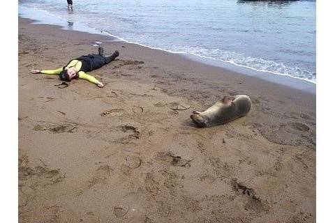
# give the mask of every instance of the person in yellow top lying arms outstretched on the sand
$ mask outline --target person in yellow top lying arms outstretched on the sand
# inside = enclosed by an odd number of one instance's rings
[[[68,65],[61,67],[57,70],[31,70],[32,73],[38,74],[42,73],[45,75],[59,75],[59,78],[62,81],[70,82],[71,79],[86,79],[89,82],[92,82],[99,87],[103,87],[104,84],[99,82],[98,79],[91,75],[87,75],[86,72],[96,70],[101,68],[107,63],[114,61],[117,56],[119,56],[119,52],[115,50],[112,56],[103,56],[103,47],[98,48],[99,54],[88,54],[86,56],[80,56],[77,59],[73,59],[68,62]]]

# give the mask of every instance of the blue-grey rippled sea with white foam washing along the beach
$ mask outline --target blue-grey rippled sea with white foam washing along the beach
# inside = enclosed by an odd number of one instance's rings
[[[313,0],[73,0],[73,6],[68,13],[65,0],[20,0],[18,13],[316,83]]]

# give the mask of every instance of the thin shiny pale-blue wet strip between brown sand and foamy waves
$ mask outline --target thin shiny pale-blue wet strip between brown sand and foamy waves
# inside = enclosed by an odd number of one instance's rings
[[[23,17],[22,17],[23,18]],[[56,22],[54,20],[50,20],[49,22],[47,21],[39,21],[39,20],[34,20],[30,18],[25,18],[27,20],[31,20],[34,22],[38,22],[37,24],[45,24],[45,25],[55,25],[55,26],[60,26],[61,29],[71,31],[73,28],[72,26],[66,27],[65,20],[63,21],[64,24],[61,25],[61,22]],[[52,24],[52,22],[54,24]],[[85,28],[86,27],[86,28]],[[90,34],[97,34],[97,35],[102,35],[102,36],[111,36],[112,38],[116,38],[117,41],[120,41],[122,43],[126,44],[133,44],[133,45],[138,45],[139,47],[145,47],[147,49],[151,50],[160,50],[162,52],[168,53],[168,54],[174,54],[181,56],[185,59],[192,60],[198,63],[203,63],[209,66],[215,66],[222,68],[223,70],[227,70],[228,72],[236,72],[241,75],[247,75],[251,77],[256,77],[258,79],[263,79],[267,82],[272,82],[274,84],[281,84],[284,86],[289,86],[292,89],[298,89],[301,91],[306,91],[308,93],[316,93],[316,84],[313,82],[309,82],[306,79],[299,79],[297,77],[292,77],[290,75],[280,75],[280,74],[274,74],[272,72],[262,72],[258,70],[254,70],[253,68],[246,68],[244,66],[239,66],[239,65],[234,65],[232,63],[226,62],[226,61],[221,61],[219,59],[212,59],[212,58],[206,58],[198,55],[193,55],[193,54],[187,54],[187,53],[178,53],[178,52],[171,52],[169,50],[165,49],[157,49],[154,47],[149,47],[146,45],[141,45],[140,43],[131,43],[127,40],[123,40],[122,38],[115,37],[112,35],[112,33],[106,33],[105,31],[99,31],[96,29],[89,28],[88,26],[85,26],[84,24],[80,24],[80,26],[75,30],[75,31],[81,31],[84,33],[90,33]]]

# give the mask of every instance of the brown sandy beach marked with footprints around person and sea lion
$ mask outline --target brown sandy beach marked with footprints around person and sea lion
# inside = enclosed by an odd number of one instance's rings
[[[110,36],[19,18],[19,222],[315,222],[315,93]],[[90,72],[55,69],[119,50]],[[189,117],[225,95],[251,111]]]

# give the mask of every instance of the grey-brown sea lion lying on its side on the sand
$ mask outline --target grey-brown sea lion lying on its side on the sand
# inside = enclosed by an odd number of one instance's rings
[[[250,109],[248,95],[225,96],[204,112],[193,111],[190,117],[200,127],[211,127],[244,116]]]

